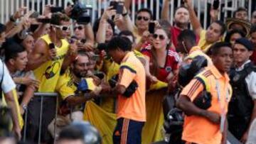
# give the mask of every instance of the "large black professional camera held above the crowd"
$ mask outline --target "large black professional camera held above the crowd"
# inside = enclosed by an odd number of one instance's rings
[[[73,0],[73,9],[70,18],[75,19],[80,24],[90,23],[89,9],[82,4],[79,0]]]

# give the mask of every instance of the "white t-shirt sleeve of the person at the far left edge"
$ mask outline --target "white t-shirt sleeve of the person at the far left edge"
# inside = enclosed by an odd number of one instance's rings
[[[4,94],[6,94],[10,92],[12,89],[15,89],[16,85],[14,83],[14,80],[11,78],[11,75],[6,65],[4,65],[3,70],[3,65],[3,62],[0,60],[0,82],[4,74],[3,82],[1,83],[1,89],[4,92]]]

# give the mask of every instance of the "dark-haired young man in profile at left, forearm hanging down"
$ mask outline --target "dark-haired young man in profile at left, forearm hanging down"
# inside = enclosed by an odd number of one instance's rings
[[[17,84],[17,92],[23,92],[23,96],[20,97],[21,100],[21,114],[23,114],[27,107],[29,101],[33,97],[33,93],[38,88],[39,82],[34,79],[33,72],[24,72],[26,64],[28,62],[28,52],[25,48],[18,43],[13,41],[5,45],[5,63],[8,68],[11,77],[13,77],[14,82]]]

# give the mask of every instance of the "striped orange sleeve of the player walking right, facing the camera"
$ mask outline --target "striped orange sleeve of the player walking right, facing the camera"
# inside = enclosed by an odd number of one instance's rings
[[[192,79],[191,82],[183,88],[181,95],[188,96],[191,101],[196,99],[196,96],[203,91],[203,84],[198,79]]]

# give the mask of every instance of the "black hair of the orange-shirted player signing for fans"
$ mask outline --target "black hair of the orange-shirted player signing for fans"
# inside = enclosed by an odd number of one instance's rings
[[[128,38],[114,37],[107,44],[107,51],[120,49],[122,51],[131,51],[132,42]]]

